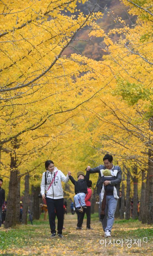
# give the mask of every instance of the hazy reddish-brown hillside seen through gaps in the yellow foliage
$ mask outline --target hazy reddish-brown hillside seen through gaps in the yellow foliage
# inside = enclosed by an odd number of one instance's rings
[[[89,10],[92,10],[96,1],[85,2],[84,5],[78,3],[78,8],[81,12],[88,14]],[[105,33],[109,33],[111,29],[119,29],[122,27],[120,20],[125,20],[130,27],[134,26],[136,23],[136,15],[130,15],[128,13],[129,6],[125,6],[122,1],[105,1],[100,0],[96,10],[101,11],[104,16],[102,19],[98,19],[97,23],[100,28],[104,29]],[[79,12],[76,12],[75,15],[78,15]],[[67,13],[66,13],[67,14]],[[68,15],[71,15],[70,12]],[[70,46],[64,50],[63,54],[70,56],[72,53],[81,53],[83,56],[86,56],[95,60],[102,60],[103,55],[107,53],[104,51],[106,46],[104,42],[104,37],[89,36],[90,26],[82,29],[76,36],[76,41],[72,42]],[[116,42],[120,38],[120,33],[116,31],[110,35],[110,38],[113,42]],[[78,41],[78,39],[81,39]]]

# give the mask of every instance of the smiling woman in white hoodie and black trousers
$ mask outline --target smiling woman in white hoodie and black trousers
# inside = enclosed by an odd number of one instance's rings
[[[53,161],[47,160],[45,162],[46,168],[46,184],[45,184],[45,172],[42,176],[41,181],[41,195],[42,199],[46,199],[46,204],[48,208],[49,215],[49,225],[52,235],[50,237],[56,236],[55,230],[55,217],[57,216],[58,224],[58,237],[62,236],[63,219],[64,219],[64,198],[63,189],[61,186],[61,181],[68,182],[69,176],[65,176],[57,167],[54,166]],[[46,197],[45,197],[46,191]],[[56,211],[56,216],[55,216]]]

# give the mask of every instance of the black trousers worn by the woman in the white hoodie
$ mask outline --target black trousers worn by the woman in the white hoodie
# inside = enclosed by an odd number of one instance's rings
[[[63,220],[64,220],[64,210],[63,210],[64,198],[52,199],[52,198],[46,197],[46,203],[48,208],[49,225],[50,225],[51,233],[56,233],[55,217],[57,216],[57,219],[58,219],[57,233],[62,234]]]

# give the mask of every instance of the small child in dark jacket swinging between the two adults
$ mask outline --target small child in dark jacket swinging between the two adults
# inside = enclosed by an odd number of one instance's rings
[[[75,181],[75,179],[71,176],[71,172],[68,172],[68,176],[70,181],[74,184],[74,190],[76,194],[74,196],[74,202],[76,210],[79,212],[83,212],[82,208],[86,208],[85,194],[87,193],[87,182],[89,181],[89,172],[87,171],[86,175],[84,174],[84,172],[77,172],[77,181]]]

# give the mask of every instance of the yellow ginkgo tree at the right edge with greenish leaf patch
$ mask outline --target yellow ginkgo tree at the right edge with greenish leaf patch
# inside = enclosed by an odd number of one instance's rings
[[[147,167],[146,222],[152,223],[152,4],[151,1],[123,1],[130,4],[130,14],[138,15],[135,26],[130,28],[120,17],[116,20],[122,28],[111,29],[105,35],[103,49],[107,52],[104,63],[114,77],[106,88],[103,99],[88,106],[92,119],[101,121],[95,137],[102,150],[115,154],[119,160],[136,159]],[[114,19],[115,20],[115,19]],[[119,33],[115,43],[111,35]],[[98,34],[98,32],[97,32]],[[114,98],[112,97],[114,96]],[[124,100],[124,101],[122,101]],[[89,117],[89,123],[91,119]],[[96,148],[96,147],[95,147]],[[99,146],[97,149],[100,148]],[[131,162],[132,164],[132,162]]]

